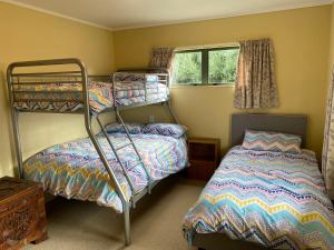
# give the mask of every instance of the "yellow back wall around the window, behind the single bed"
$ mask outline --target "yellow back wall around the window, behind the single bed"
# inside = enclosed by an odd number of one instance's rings
[[[315,7],[114,32],[116,68],[146,66],[153,47],[188,47],[272,38],[281,106],[261,110],[308,114],[308,148],[320,156],[330,52],[331,7]],[[233,87],[176,87],[173,107],[191,136],[229,141]],[[139,116],[137,114],[137,118]]]

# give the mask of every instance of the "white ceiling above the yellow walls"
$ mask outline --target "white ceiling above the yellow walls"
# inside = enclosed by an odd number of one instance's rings
[[[0,0],[1,1],[1,0]],[[333,0],[2,0],[77,21],[128,29],[327,4]]]

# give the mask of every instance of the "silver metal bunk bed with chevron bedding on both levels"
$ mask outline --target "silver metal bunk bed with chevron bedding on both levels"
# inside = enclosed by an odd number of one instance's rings
[[[80,60],[55,59],[13,62],[7,78],[20,177],[40,181],[56,196],[112,207],[124,214],[125,241],[130,244],[130,208],[161,179],[187,166],[185,137],[131,134],[120,114],[122,109],[161,104],[178,123],[170,107],[168,71],[128,69],[112,77],[88,76]],[[20,112],[81,113],[88,137],[52,146],[23,162]],[[106,112],[115,114],[122,133],[108,133],[101,119]],[[94,119],[99,132],[92,129]],[[66,190],[69,187],[81,192]]]

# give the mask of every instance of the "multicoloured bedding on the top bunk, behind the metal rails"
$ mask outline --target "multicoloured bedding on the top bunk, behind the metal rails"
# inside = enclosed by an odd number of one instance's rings
[[[143,78],[143,74],[120,74],[116,78],[116,106],[155,103],[169,98],[168,87],[158,82],[157,77]],[[127,77],[125,77],[127,76]],[[136,78],[134,76],[137,76]],[[131,81],[130,81],[131,80]],[[14,108],[21,111],[73,112],[84,108],[80,83],[17,84]],[[92,112],[114,107],[114,84],[89,83],[89,104]]]

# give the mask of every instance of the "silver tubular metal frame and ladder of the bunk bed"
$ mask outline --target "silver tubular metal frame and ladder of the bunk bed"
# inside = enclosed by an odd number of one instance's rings
[[[59,72],[28,72],[28,73],[14,73],[14,70],[18,68],[33,68],[33,67],[52,67],[52,66],[75,66],[78,68],[78,70],[71,70],[71,71],[59,71]],[[170,84],[170,76],[168,70],[166,69],[128,69],[128,70],[121,70],[121,71],[127,71],[127,72],[134,72],[134,71],[140,71],[140,72],[146,72],[146,71],[156,71],[158,70],[158,72],[164,72],[164,73],[157,73],[160,77],[165,77],[164,80],[161,80],[163,82],[166,83],[167,89],[169,89],[169,84]],[[58,110],[18,110],[14,108],[14,93],[18,92],[18,90],[16,90],[14,86],[19,86],[19,84],[32,84],[32,86],[37,86],[37,84],[49,84],[49,83],[55,83],[55,81],[52,80],[48,80],[48,78],[70,78],[70,79],[75,79],[75,80],[66,80],[66,81],[57,81],[57,83],[80,83],[82,86],[82,100],[78,101],[76,100],[76,102],[81,103],[84,109],[80,110],[76,110],[76,111],[58,111]],[[20,80],[20,78],[41,78],[45,79],[42,81],[23,81]],[[135,208],[136,207],[136,202],[138,200],[140,200],[140,198],[143,198],[145,194],[150,193],[151,189],[159,182],[159,181],[153,181],[150,179],[148,169],[146,168],[139,152],[138,149],[136,148],[132,138],[120,116],[120,110],[122,109],[129,109],[129,108],[136,108],[136,107],[143,107],[143,106],[148,106],[148,104],[164,104],[165,107],[167,107],[169,114],[171,116],[173,120],[178,123],[171,107],[170,107],[170,101],[169,98],[167,98],[167,100],[161,101],[161,102],[148,102],[147,101],[147,90],[146,90],[146,84],[145,84],[145,102],[140,102],[139,104],[134,104],[134,106],[127,106],[127,107],[118,107],[117,106],[117,100],[116,100],[116,88],[114,88],[114,107],[107,108],[105,110],[102,110],[99,113],[92,114],[90,112],[90,108],[89,108],[89,79],[90,76],[87,74],[87,70],[85,64],[76,58],[68,58],[68,59],[52,59],[52,60],[39,60],[39,61],[22,61],[22,62],[13,62],[8,67],[7,70],[7,81],[8,81],[8,89],[9,89],[9,98],[10,98],[10,104],[11,104],[11,117],[12,117],[12,126],[13,126],[13,134],[14,134],[14,147],[16,147],[16,151],[17,151],[17,161],[18,161],[18,169],[19,169],[19,176],[20,178],[23,178],[23,160],[22,160],[22,150],[21,150],[21,139],[20,139],[20,131],[19,131],[19,124],[18,124],[18,120],[19,120],[19,112],[47,112],[47,113],[82,113],[85,114],[85,127],[87,130],[87,133],[94,144],[94,147],[96,148],[96,151],[99,154],[100,160],[102,161],[106,171],[108,172],[109,177],[110,177],[110,181],[115,184],[115,189],[116,192],[118,193],[121,202],[122,202],[122,213],[124,213],[124,223],[125,223],[125,244],[129,246],[131,242],[131,236],[130,236],[130,208]],[[91,78],[100,78],[100,79],[108,79],[109,81],[110,76],[91,76]],[[47,80],[46,80],[47,79]],[[80,79],[80,80],[77,80]],[[115,79],[114,79],[115,80]],[[79,90],[78,90],[79,91]],[[30,92],[30,91],[24,91],[24,92]],[[66,92],[66,91],[63,91]],[[68,91],[71,92],[71,91]],[[29,99],[30,101],[32,99]],[[33,100],[32,100],[33,101]],[[48,101],[48,100],[47,100]],[[116,119],[117,121],[125,128],[126,131],[126,136],[129,140],[129,143],[126,143],[122,147],[116,148],[112,144],[112,141],[108,138],[107,136],[107,131],[105,130],[105,127],[100,120],[100,114],[105,113],[105,112],[115,112],[116,113]],[[108,162],[107,156],[104,152],[104,149],[101,147],[101,144],[99,143],[99,141],[97,140],[96,133],[92,131],[92,127],[91,127],[91,120],[92,118],[96,118],[104,136],[107,138],[107,141],[111,148],[111,150],[114,151],[116,159],[118,161],[118,163],[120,164],[124,174],[131,188],[131,197],[128,199],[125,194],[125,192],[122,191],[122,189],[120,188],[120,184],[116,178],[116,174],[114,173],[114,170],[111,168],[111,166]],[[125,168],[125,166],[121,162],[121,159],[118,154],[118,151],[126,148],[126,147],[132,147],[132,149],[135,150],[137,157],[138,157],[138,161],[136,162],[136,166],[141,164],[143,168],[145,169],[145,172],[147,174],[148,178],[148,187],[145,188],[144,190],[136,192],[136,190],[134,189],[134,184],[130,181],[130,178],[127,173],[127,169]],[[131,166],[131,168],[134,168],[134,166]]]

